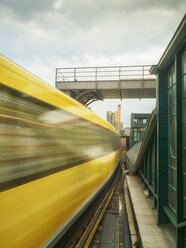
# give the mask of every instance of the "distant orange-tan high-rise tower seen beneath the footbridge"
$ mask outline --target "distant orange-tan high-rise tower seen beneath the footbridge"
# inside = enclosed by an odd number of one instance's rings
[[[123,122],[121,122],[121,105],[118,105],[118,111],[107,111],[107,121],[110,122],[118,131],[123,128]]]

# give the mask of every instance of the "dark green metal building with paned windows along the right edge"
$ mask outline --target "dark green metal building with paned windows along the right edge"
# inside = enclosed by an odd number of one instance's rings
[[[157,108],[135,166],[154,197],[157,223],[173,227],[176,247],[186,248],[186,15],[151,74]]]

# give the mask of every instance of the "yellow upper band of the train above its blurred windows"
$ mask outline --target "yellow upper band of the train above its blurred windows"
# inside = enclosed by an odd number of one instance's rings
[[[15,90],[64,109],[119,135],[117,130],[94,112],[0,55],[0,82]]]

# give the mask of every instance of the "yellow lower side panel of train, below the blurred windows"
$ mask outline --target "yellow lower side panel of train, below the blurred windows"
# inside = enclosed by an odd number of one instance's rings
[[[120,151],[0,194],[0,247],[40,247],[112,173]]]

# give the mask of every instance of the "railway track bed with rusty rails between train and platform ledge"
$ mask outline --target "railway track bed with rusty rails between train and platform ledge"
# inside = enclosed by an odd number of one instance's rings
[[[120,166],[94,202],[76,220],[55,248],[131,247]]]

